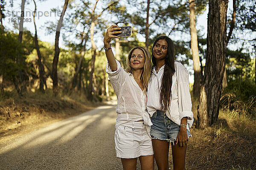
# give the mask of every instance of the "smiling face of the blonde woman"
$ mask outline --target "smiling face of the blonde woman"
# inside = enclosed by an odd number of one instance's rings
[[[130,58],[131,68],[134,70],[143,69],[145,63],[145,56],[142,50],[135,49]]]

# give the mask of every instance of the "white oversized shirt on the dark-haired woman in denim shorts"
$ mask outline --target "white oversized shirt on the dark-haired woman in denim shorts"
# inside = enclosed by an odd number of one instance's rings
[[[162,85],[164,65],[159,69],[158,73],[153,69],[151,78],[148,82],[148,113],[152,116],[156,110],[161,110],[160,90]],[[194,117],[192,112],[192,101],[189,92],[189,73],[186,68],[175,60],[175,73],[172,76],[172,98],[167,108],[166,115],[180,125],[183,117],[188,117],[187,129],[192,126]]]

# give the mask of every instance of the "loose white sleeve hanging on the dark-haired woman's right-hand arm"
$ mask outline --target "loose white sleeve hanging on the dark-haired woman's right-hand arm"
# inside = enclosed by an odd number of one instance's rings
[[[177,64],[176,71],[180,119],[187,117],[187,123],[189,127],[191,127],[194,122],[194,116],[192,112],[192,101],[189,92],[189,73],[181,63]]]

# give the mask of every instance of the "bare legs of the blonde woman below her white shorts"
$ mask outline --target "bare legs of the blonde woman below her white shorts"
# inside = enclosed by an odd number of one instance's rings
[[[154,170],[154,155],[140,156],[139,159],[141,170]],[[136,170],[137,158],[121,158],[121,161],[124,170]]]

